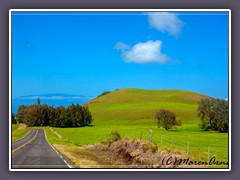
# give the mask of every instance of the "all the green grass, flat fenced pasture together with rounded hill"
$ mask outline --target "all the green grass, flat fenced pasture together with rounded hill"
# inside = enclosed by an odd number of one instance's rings
[[[195,160],[207,160],[216,156],[219,161],[228,161],[228,133],[199,129],[197,102],[204,95],[180,90],[122,89],[88,102],[93,115],[93,126],[80,128],[53,128],[65,141],[75,145],[95,144],[106,140],[111,131],[122,137],[147,140],[148,131],[153,130],[153,142],[159,148],[187,154]],[[157,128],[155,111],[168,109],[182,121],[182,126],[166,131]],[[52,137],[54,143],[60,142]]]

